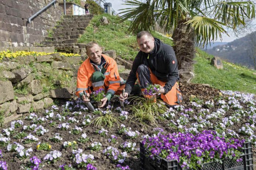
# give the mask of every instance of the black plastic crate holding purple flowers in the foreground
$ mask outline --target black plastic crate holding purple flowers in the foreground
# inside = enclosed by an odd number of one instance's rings
[[[143,170],[182,170],[177,160],[166,160],[160,156],[155,156],[153,160],[146,156],[146,153],[147,151],[142,143],[140,143],[140,157]],[[241,162],[231,159],[225,159],[223,163],[209,162],[203,164],[201,170],[253,170],[252,143],[244,144],[243,153],[244,155],[241,156],[243,161]]]

